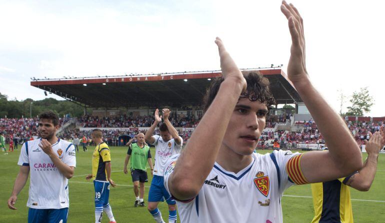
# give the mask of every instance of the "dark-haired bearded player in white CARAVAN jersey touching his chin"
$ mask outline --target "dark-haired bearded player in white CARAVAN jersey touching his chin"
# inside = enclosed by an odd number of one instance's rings
[[[59,118],[53,112],[39,115],[40,139],[25,142],[17,165],[20,171],[14,182],[9,209],[16,210],[17,195],[28,175],[28,223],[66,223],[68,216],[68,179],[76,167],[75,148],[56,137]]]

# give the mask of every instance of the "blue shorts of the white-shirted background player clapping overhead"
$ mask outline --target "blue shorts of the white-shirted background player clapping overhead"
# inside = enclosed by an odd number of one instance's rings
[[[167,190],[164,188],[164,178],[153,175],[151,186],[148,192],[148,202],[163,202],[166,200],[167,204],[175,205],[176,201],[171,199]]]

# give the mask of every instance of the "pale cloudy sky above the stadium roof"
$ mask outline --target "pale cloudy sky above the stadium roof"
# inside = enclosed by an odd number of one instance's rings
[[[384,116],[385,2],[292,3],[304,19],[306,65],[317,89],[339,111],[339,92],[367,86],[375,99],[367,115]],[[286,70],[291,42],[279,6],[279,0],[0,0],[0,92],[40,100],[43,91],[30,86],[30,77],[217,70],[215,36],[241,68]]]

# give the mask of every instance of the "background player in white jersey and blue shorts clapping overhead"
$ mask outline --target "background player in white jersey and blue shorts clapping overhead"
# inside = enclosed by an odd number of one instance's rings
[[[163,202],[163,198],[168,204],[168,222],[176,222],[176,202],[171,198],[167,190],[164,188],[163,170],[168,158],[174,154],[179,154],[182,148],[183,139],[178,135],[176,129],[168,120],[170,110],[162,109],[163,123],[159,127],[160,136],[153,135],[155,127],[161,121],[159,110],[155,110],[154,122],[145,133],[144,139],[155,146],[155,167],[153,178],[148,192],[148,211],[157,223],[163,223],[160,211],[157,209],[159,202]]]

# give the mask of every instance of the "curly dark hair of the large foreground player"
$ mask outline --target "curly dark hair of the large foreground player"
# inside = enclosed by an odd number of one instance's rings
[[[247,82],[246,91],[243,92],[240,98],[248,98],[250,101],[259,100],[261,103],[264,103],[267,108],[270,108],[271,105],[275,104],[275,99],[271,94],[269,85],[270,82],[267,78],[263,77],[258,70],[256,71],[243,71],[244,78]],[[212,82],[211,85],[207,88],[206,94],[203,98],[203,111],[206,112],[212,101],[214,100],[216,94],[218,93],[220,84],[223,82],[223,78],[217,77]]]

